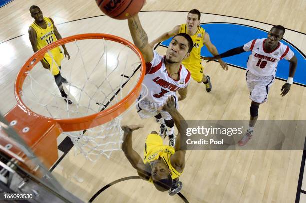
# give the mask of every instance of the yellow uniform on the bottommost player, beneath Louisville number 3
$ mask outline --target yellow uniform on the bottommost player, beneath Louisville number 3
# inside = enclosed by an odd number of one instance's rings
[[[144,164],[159,159],[161,157],[163,161],[167,164],[168,168],[172,172],[172,179],[176,179],[183,172],[178,172],[171,164],[170,157],[175,153],[174,147],[163,145],[162,138],[157,134],[149,134],[146,138],[145,149],[144,149]],[[152,183],[152,177],[149,178],[149,182]]]

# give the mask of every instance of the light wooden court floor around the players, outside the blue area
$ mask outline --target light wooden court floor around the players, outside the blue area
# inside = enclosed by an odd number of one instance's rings
[[[27,34],[32,23],[28,9],[33,4],[41,8],[44,16],[52,17],[63,37],[102,32],[131,40],[127,22],[99,16],[103,13],[94,0],[14,0],[5,5],[0,8],[0,93],[5,98],[0,103],[2,114],[16,104],[13,81],[24,61],[33,53]],[[142,10],[148,12],[141,12],[140,18],[149,41],[184,23],[187,13],[178,11],[193,8],[203,13],[201,22],[234,22],[264,30],[269,30],[270,24],[281,24],[290,29],[286,31],[285,39],[305,53],[305,0],[147,0]],[[156,50],[165,53],[164,47],[158,46]],[[180,102],[179,107],[185,119],[248,120],[250,100],[244,80],[245,70],[229,67],[229,71],[224,72],[216,62],[204,64],[204,67],[204,73],[212,79],[213,90],[207,93],[203,85],[191,81],[187,99]],[[279,90],[283,83],[276,80],[273,84],[269,101],[260,106],[260,120],[306,120],[305,87],[292,85],[289,94],[281,98]],[[145,126],[133,136],[133,146],[142,155],[146,135],[151,130],[158,130],[158,124],[153,119],[140,120],[135,110],[130,111],[122,123]],[[186,167],[180,178],[184,184],[181,194],[185,199],[158,192],[140,179],[126,179],[137,174],[122,151],[114,152],[110,159],[102,156],[96,162],[90,162],[82,155],[75,155],[72,148],[52,174],[65,189],[85,202],[107,184],[122,179],[110,184],[93,202],[293,203],[302,154],[301,150],[244,151],[242,148],[188,151]],[[306,191],[305,178],[301,189]],[[306,194],[300,193],[300,203],[306,203]]]

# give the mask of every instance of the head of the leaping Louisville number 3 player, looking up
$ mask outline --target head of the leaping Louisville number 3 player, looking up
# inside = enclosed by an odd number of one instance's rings
[[[193,41],[186,33],[176,34],[169,44],[166,52],[168,63],[181,63],[190,55],[193,48]]]

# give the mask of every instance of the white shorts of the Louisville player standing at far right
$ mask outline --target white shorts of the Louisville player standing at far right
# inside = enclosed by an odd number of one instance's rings
[[[269,90],[275,80],[273,75],[270,76],[256,76],[249,71],[246,71],[246,83],[251,95],[249,98],[262,104],[267,101]]]

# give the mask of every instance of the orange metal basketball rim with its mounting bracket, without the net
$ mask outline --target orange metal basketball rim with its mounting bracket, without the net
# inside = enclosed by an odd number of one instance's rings
[[[55,119],[39,115],[30,110],[21,99],[23,82],[27,77],[27,71],[30,71],[38,62],[40,62],[48,50],[68,42],[85,39],[111,40],[128,46],[136,53],[141,61],[141,75],[130,93],[121,101],[104,111],[79,118]],[[45,164],[46,167],[49,168],[58,159],[56,141],[58,135],[62,132],[78,131],[102,125],[126,111],[140,94],[141,83],[145,75],[144,70],[145,61],[139,49],[134,44],[121,37],[102,33],[88,33],[59,39],[33,54],[22,66],[15,81],[17,105],[4,117],[10,123],[10,126],[15,129],[18,135],[24,139],[26,144],[32,148],[35,155]],[[3,130],[0,129],[1,134],[5,134],[1,131]],[[5,139],[5,137],[1,136],[0,144],[6,146],[11,143],[9,142],[9,139]],[[21,157],[25,156],[17,146],[13,146],[10,151]]]

